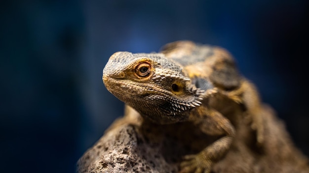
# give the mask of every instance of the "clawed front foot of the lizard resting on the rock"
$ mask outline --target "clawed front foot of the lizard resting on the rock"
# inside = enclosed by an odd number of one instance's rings
[[[202,155],[186,155],[180,164],[179,173],[210,173],[212,162]]]

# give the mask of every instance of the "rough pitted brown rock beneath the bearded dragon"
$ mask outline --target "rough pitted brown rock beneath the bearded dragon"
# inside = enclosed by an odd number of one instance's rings
[[[262,146],[256,146],[249,116],[226,156],[212,173],[309,173],[308,159],[294,146],[284,124],[264,106]],[[207,136],[190,123],[156,125],[132,108],[117,119],[94,146],[77,162],[77,173],[177,173],[182,157],[198,153],[217,137]]]

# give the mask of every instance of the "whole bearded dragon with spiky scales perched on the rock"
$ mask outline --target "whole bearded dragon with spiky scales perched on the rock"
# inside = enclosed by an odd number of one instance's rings
[[[239,110],[251,116],[257,145],[263,144],[257,88],[240,74],[224,48],[181,40],[164,45],[158,53],[116,52],[105,65],[102,80],[147,120],[191,121],[203,133],[220,137],[199,153],[184,156],[181,173],[210,173],[232,144],[236,131],[232,117]]]

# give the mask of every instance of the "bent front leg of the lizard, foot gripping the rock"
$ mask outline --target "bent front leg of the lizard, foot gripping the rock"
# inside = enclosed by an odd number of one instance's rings
[[[235,135],[234,127],[229,119],[219,112],[206,108],[201,108],[198,112],[204,115],[207,113],[206,117],[200,117],[199,119],[201,120],[198,120],[196,123],[202,132],[210,135],[224,136],[199,153],[185,156],[184,161],[180,164],[180,173],[209,173],[213,163],[220,160],[229,150]]]

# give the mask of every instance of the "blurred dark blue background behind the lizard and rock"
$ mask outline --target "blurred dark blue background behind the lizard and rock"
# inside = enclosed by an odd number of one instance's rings
[[[117,51],[228,49],[309,155],[308,0],[1,0],[0,173],[74,173],[123,114],[102,82]]]

